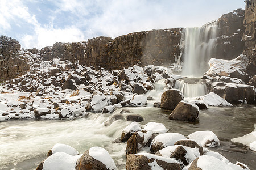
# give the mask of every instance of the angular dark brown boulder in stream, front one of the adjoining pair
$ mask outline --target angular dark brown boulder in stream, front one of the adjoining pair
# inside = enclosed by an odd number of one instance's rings
[[[199,114],[199,107],[194,104],[180,101],[174,111],[169,116],[171,120],[196,121]]]

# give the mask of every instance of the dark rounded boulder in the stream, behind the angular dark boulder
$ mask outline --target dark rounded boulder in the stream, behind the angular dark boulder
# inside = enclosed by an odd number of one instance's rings
[[[161,108],[173,110],[183,99],[183,94],[180,90],[167,90],[161,96]]]

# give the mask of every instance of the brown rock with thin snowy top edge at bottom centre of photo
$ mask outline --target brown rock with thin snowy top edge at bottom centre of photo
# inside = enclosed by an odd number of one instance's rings
[[[126,159],[126,169],[167,169],[176,170],[180,169],[180,164],[174,159],[163,158],[162,156],[157,156],[153,154],[140,153],[140,154],[130,154]]]

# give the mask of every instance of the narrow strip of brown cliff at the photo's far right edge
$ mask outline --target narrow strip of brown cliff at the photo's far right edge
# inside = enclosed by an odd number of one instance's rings
[[[246,29],[243,33],[243,40],[245,41],[243,54],[245,54],[250,61],[249,65],[246,67],[247,73],[253,76],[256,74],[256,0],[246,0],[245,3],[245,20],[243,21],[243,25],[245,25]]]

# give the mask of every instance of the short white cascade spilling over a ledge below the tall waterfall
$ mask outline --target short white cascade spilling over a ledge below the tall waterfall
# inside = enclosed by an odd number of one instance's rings
[[[177,80],[174,88],[183,92],[184,97],[204,96],[208,93],[207,86],[199,82],[199,78],[182,78]]]

